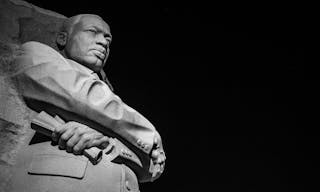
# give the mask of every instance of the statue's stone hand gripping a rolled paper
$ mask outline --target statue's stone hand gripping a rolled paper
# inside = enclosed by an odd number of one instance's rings
[[[52,140],[58,142],[60,149],[76,155],[91,147],[106,148],[109,138],[100,132],[77,122],[68,122],[55,129]]]

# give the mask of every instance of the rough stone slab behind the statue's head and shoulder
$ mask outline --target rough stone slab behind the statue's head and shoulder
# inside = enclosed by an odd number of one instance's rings
[[[0,191],[17,151],[28,140],[34,115],[16,89],[12,75],[19,68],[12,61],[26,41],[56,49],[55,34],[65,18],[26,1],[0,0]]]

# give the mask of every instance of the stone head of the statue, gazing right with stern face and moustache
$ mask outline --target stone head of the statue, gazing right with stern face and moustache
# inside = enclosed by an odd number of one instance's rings
[[[56,42],[67,58],[99,72],[109,56],[111,40],[110,27],[101,17],[82,14],[66,19]]]

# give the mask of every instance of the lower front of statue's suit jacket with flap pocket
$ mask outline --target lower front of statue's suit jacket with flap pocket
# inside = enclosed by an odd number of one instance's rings
[[[101,162],[93,165],[86,157],[59,150],[50,141],[25,145],[14,166],[0,164],[0,191],[139,192],[135,173],[124,164],[111,162],[113,156],[103,153]]]

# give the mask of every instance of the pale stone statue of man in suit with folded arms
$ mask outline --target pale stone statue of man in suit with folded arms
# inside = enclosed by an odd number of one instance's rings
[[[66,123],[52,137],[30,133],[5,191],[139,191],[138,182],[161,175],[159,133],[113,93],[103,72],[111,41],[101,17],[83,14],[63,22],[58,51],[36,41],[22,44],[13,75],[19,93],[32,111]],[[119,144],[110,147],[112,138]],[[82,155],[92,147],[108,149],[98,164]]]

